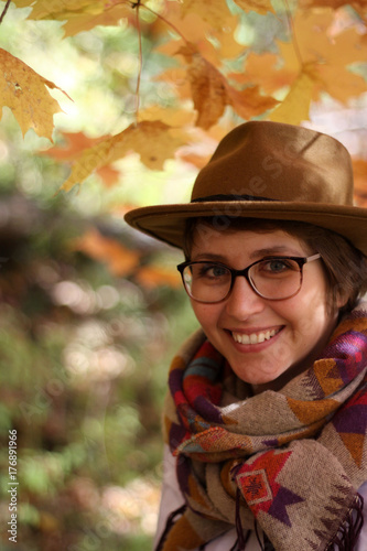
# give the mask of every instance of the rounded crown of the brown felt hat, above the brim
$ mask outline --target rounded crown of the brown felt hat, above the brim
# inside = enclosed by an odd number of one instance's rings
[[[192,201],[217,195],[352,206],[350,155],[334,138],[307,128],[246,122],[222,140],[195,181]]]

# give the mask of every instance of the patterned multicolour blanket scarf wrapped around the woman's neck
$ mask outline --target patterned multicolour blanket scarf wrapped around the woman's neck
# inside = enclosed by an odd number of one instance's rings
[[[234,527],[236,549],[257,527],[277,551],[353,549],[367,480],[366,369],[366,303],[278,392],[252,396],[195,333],[170,370],[165,439],[186,506],[161,549],[204,549]]]

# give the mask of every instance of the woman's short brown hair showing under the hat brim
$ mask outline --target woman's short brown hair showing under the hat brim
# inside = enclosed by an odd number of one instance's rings
[[[272,231],[281,229],[301,239],[310,253],[320,252],[327,282],[327,299],[332,310],[339,296],[347,298],[341,312],[353,310],[360,296],[367,292],[367,257],[347,239],[328,229],[302,222],[269,220],[228,216],[190,218],[186,223],[184,253],[190,259],[195,235],[207,235],[211,229],[235,231]]]

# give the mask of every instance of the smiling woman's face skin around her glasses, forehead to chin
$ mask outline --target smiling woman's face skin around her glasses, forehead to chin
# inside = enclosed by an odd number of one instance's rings
[[[241,270],[263,257],[306,257],[314,252],[280,229],[213,229],[205,235],[195,233],[191,260],[219,261]],[[304,264],[302,288],[290,299],[262,299],[244,277],[238,277],[225,301],[202,304],[192,300],[192,306],[207,338],[240,379],[255,391],[277,390],[310,367],[327,343],[337,312],[327,307],[326,296],[322,260],[315,260]],[[263,336],[258,338],[261,333],[266,335],[263,342]],[[248,341],[242,335],[251,335],[253,344],[242,344]]]

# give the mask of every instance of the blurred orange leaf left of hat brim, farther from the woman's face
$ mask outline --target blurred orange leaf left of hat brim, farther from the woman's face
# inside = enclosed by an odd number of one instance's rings
[[[74,250],[104,262],[114,276],[125,277],[139,266],[140,253],[125,247],[117,239],[102,236],[97,229],[90,229],[84,236],[72,241]]]

